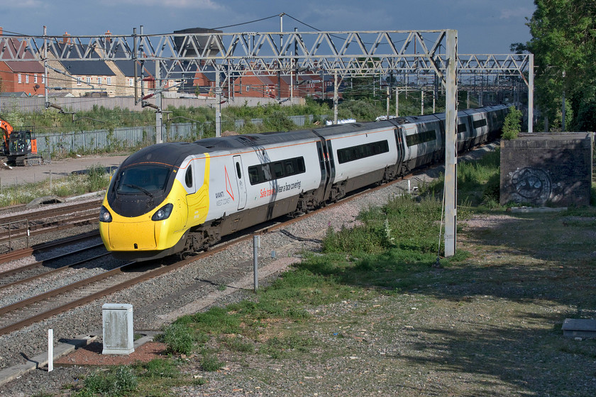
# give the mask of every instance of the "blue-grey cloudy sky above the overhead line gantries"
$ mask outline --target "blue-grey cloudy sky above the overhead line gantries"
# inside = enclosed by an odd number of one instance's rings
[[[530,40],[525,23],[536,7],[532,0],[0,0],[0,9],[4,33],[23,35],[42,35],[43,26],[48,35],[131,35],[140,26],[145,34],[263,33],[279,31],[281,19],[284,31],[456,29],[460,54],[507,54]]]

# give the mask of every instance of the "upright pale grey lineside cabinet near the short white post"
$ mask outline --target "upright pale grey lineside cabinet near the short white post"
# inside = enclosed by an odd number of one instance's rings
[[[101,354],[131,354],[134,349],[133,306],[104,303],[104,350]]]

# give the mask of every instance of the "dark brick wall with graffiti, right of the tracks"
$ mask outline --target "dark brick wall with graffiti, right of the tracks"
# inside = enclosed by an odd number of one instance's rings
[[[594,133],[520,134],[501,140],[500,203],[588,206]]]

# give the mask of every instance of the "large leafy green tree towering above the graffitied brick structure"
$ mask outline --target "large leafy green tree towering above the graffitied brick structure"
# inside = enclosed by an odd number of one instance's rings
[[[563,91],[578,115],[568,125],[595,130],[596,2],[594,0],[534,0],[536,11],[526,23],[531,40],[512,49],[529,50],[536,65],[536,104],[554,121]],[[567,103],[567,101],[565,101]],[[580,117],[582,116],[582,117]]]

